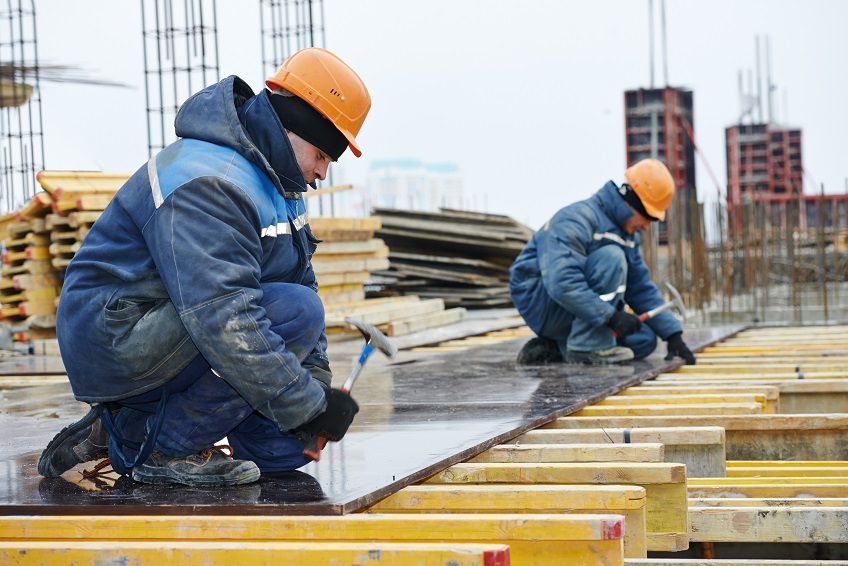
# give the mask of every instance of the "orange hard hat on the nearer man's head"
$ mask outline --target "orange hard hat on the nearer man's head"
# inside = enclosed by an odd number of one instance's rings
[[[354,155],[362,155],[356,136],[371,108],[371,95],[359,75],[336,55],[320,47],[301,49],[265,85],[271,90],[284,88],[308,102],[347,138]]]

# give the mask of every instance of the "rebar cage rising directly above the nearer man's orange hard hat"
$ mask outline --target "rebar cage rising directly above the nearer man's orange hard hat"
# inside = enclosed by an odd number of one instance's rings
[[[262,76],[269,76],[293,53],[324,47],[322,0],[259,0]]]

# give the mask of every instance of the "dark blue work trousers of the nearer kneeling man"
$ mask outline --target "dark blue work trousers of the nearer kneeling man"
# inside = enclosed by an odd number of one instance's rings
[[[262,291],[262,306],[271,330],[303,361],[324,328],[320,298],[308,287],[292,283],[266,283]],[[280,431],[275,423],[253,411],[202,356],[163,387],[119,403],[121,411],[115,426],[120,437],[140,443],[145,438],[145,425],[149,430],[150,423],[161,419],[156,449],[169,456],[188,456],[227,437],[233,457],[255,462],[262,473],[291,471],[309,462],[303,456],[306,445],[296,435]],[[124,467],[121,463],[132,461],[137,452],[125,445],[115,453],[115,445],[112,439],[110,459],[117,464],[118,472],[128,473],[128,469],[120,469]]]

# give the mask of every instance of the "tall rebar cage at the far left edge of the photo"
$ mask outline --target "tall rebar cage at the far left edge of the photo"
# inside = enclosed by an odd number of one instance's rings
[[[22,206],[44,168],[35,5],[0,9],[0,210]]]

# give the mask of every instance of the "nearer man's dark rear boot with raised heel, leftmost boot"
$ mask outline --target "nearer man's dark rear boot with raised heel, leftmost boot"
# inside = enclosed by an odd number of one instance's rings
[[[94,407],[77,422],[63,428],[38,458],[38,473],[56,478],[77,464],[109,457],[109,433]]]

